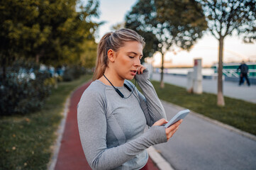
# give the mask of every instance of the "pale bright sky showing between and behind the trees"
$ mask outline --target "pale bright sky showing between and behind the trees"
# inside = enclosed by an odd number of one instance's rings
[[[98,37],[100,38],[111,31],[111,27],[116,23],[124,21],[126,13],[131,10],[137,0],[101,0],[99,11],[100,17],[97,21],[106,21],[98,30]],[[174,48],[174,52],[167,52],[165,55],[165,62],[169,62],[172,67],[187,66],[192,67],[194,59],[202,59],[204,67],[211,66],[218,62],[218,40],[213,38],[209,33],[198,40],[193,49],[189,52]],[[241,62],[242,60],[250,60],[256,62],[256,44],[245,44],[241,38],[236,36],[226,37],[224,40],[223,62]],[[160,54],[155,54],[153,57],[155,66],[161,63]]]

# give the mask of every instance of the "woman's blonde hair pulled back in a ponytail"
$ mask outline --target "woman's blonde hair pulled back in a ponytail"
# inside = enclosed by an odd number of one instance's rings
[[[143,47],[145,46],[144,38],[138,35],[134,30],[128,28],[106,33],[101,38],[97,49],[96,69],[93,80],[102,77],[106,67],[108,67],[108,50],[112,49],[117,52],[120,47],[125,45],[125,42],[129,41],[137,41],[140,42]]]

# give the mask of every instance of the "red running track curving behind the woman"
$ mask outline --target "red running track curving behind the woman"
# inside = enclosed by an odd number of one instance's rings
[[[91,169],[84,157],[84,152],[79,138],[77,126],[77,103],[79,102],[82,93],[90,83],[79,87],[70,98],[69,111],[65,122],[65,130],[62,135],[59,153],[57,154],[57,162],[55,170],[82,170]],[[58,149],[56,149],[58,150]],[[152,159],[148,160],[148,169],[157,170],[157,166],[153,164]]]

